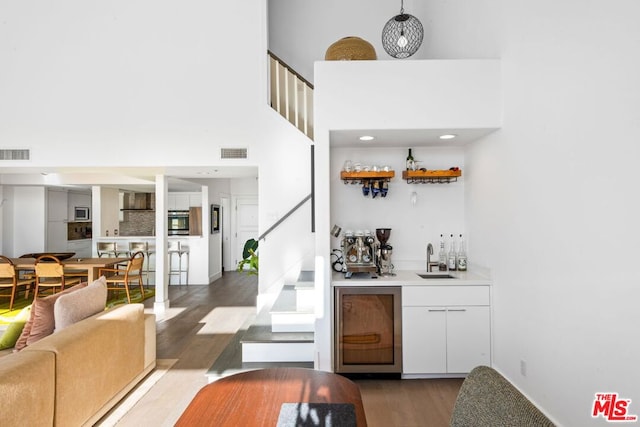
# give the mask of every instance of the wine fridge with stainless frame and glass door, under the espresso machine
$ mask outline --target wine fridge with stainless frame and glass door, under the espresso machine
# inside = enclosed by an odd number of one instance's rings
[[[338,373],[402,372],[401,287],[335,288]]]

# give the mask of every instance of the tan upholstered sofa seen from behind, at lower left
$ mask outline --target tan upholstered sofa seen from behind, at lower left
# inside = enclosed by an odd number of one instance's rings
[[[0,425],[93,425],[155,364],[153,314],[100,312],[0,358]]]

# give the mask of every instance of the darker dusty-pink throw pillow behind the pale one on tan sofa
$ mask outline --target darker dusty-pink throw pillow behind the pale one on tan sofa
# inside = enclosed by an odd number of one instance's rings
[[[22,330],[22,334],[20,334],[20,338],[18,338],[18,342],[16,342],[16,350],[20,351],[39,339],[42,339],[47,335],[51,335],[55,326],[55,322],[53,320],[53,304],[55,304],[56,300],[62,295],[77,291],[78,289],[82,289],[86,286],[86,283],[80,283],[72,288],[58,292],[57,294],[34,299],[33,304],[31,304],[31,316],[24,325],[24,329]]]

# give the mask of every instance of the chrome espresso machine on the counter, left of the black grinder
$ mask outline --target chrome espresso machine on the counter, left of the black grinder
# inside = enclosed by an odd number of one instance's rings
[[[378,272],[377,242],[370,231],[347,231],[342,238],[345,273],[349,279],[353,273],[370,273],[376,278]]]

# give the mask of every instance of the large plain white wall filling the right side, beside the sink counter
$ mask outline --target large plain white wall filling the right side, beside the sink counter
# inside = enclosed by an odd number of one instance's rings
[[[447,3],[434,48],[463,52]],[[638,415],[640,4],[483,3],[504,19],[505,116],[467,153],[466,218],[494,273],[494,364],[561,425],[604,425],[603,391]]]

